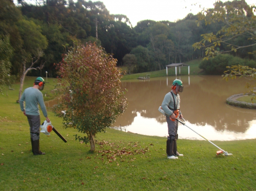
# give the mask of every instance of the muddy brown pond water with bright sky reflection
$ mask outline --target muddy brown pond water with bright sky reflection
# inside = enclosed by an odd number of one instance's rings
[[[143,135],[168,136],[165,116],[158,111],[164,95],[171,91],[176,77],[122,81],[128,92],[126,112],[113,127]],[[186,124],[209,140],[256,138],[256,110],[234,107],[226,99],[247,91],[246,79],[222,80],[221,76],[178,76],[184,85],[180,92],[180,110]],[[46,103],[52,107],[56,100]],[[179,124],[179,138],[199,139],[192,130]]]

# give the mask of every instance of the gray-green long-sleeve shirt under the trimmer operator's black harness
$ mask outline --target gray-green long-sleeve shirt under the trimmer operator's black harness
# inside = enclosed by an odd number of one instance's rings
[[[174,96],[174,100],[175,100],[175,107],[176,107],[176,104],[177,104],[177,101],[178,101],[177,109],[180,109],[180,95],[179,94],[175,95],[175,93],[173,93],[173,96]],[[164,96],[164,100],[163,100],[163,103],[162,103],[161,107],[165,112],[165,114],[164,114],[165,116],[172,115],[173,109],[174,109],[174,103],[173,103],[173,97],[172,97],[171,92],[168,92]],[[170,110],[168,107],[170,107],[172,110]],[[181,112],[180,112],[180,114],[181,114]]]

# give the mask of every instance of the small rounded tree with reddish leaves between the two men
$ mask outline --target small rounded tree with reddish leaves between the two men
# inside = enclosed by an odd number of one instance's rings
[[[63,94],[54,112],[65,128],[86,134],[75,135],[76,140],[90,142],[91,151],[95,150],[94,136],[105,132],[127,107],[116,62],[96,44],[87,43],[69,51],[57,64]]]

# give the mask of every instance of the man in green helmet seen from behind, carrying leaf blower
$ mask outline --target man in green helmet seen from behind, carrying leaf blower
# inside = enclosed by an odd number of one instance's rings
[[[37,77],[34,86],[24,90],[20,98],[20,109],[28,118],[30,126],[30,140],[32,152],[34,155],[44,155],[45,153],[39,150],[39,133],[40,133],[40,114],[38,103],[42,109],[46,121],[49,123],[50,119],[47,117],[46,107],[44,105],[43,94],[40,92],[44,89],[44,79]],[[40,90],[40,91],[39,91]],[[26,107],[24,109],[24,101]]]

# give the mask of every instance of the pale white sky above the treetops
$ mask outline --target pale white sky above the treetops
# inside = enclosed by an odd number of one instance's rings
[[[99,0],[92,0],[96,2]],[[132,26],[141,20],[169,20],[183,19],[188,13],[196,15],[202,8],[214,8],[215,0],[100,0],[110,14],[126,15]],[[255,0],[245,0],[247,4]],[[222,2],[226,2],[223,0]]]

